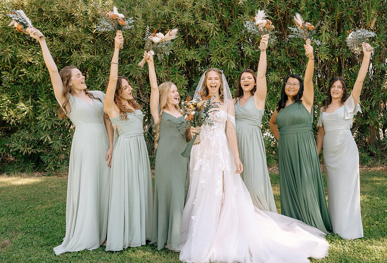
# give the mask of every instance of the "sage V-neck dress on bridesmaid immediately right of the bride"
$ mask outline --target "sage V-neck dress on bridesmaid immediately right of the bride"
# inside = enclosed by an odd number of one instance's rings
[[[253,96],[240,106],[235,103],[235,130],[240,160],[243,164],[241,177],[254,206],[261,210],[277,212],[267,171],[265,143],[260,126],[264,110],[258,110]]]

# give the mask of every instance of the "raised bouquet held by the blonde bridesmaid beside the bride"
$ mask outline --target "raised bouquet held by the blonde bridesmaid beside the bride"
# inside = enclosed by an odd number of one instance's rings
[[[159,59],[163,59],[164,56],[169,55],[171,53],[172,47],[172,39],[177,37],[178,29],[170,29],[163,33],[156,33],[156,29],[152,34],[149,33],[149,26],[146,27],[145,32],[145,50],[149,51],[154,55],[157,54]],[[142,59],[140,61],[139,66],[144,67],[146,60]]]

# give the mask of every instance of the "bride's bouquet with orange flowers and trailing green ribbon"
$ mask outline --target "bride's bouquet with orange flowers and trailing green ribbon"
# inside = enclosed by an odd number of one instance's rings
[[[199,94],[201,95],[201,94]],[[197,133],[192,138],[191,142],[187,145],[184,152],[182,152],[183,157],[188,157],[191,153],[192,145],[200,143],[200,126],[202,125],[214,125],[212,119],[210,118],[211,112],[217,111],[219,108],[219,103],[215,102],[212,99],[212,96],[207,98],[195,98],[190,100],[188,97],[185,101],[182,102],[182,110],[184,118],[187,120],[187,126],[185,131],[188,130],[191,126],[195,127]]]

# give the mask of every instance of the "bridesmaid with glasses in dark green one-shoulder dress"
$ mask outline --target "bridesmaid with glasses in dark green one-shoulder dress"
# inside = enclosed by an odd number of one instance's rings
[[[312,131],[313,47],[304,47],[309,59],[305,86],[298,75],[284,79],[269,125],[278,140],[281,213],[328,233],[332,227]]]

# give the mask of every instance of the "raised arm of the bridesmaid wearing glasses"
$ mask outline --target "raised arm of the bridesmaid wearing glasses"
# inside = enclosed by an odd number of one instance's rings
[[[307,108],[309,112],[312,112],[314,89],[313,89],[313,72],[314,72],[314,56],[313,47],[310,45],[304,45],[305,55],[308,57],[307,69],[305,70],[304,78],[304,93],[302,98],[302,104]]]

